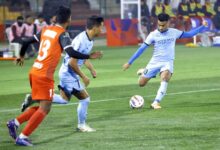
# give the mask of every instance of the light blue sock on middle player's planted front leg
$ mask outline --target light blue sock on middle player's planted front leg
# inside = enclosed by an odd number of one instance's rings
[[[86,123],[87,109],[89,106],[89,102],[90,102],[90,97],[79,100],[79,105],[77,108],[78,124],[82,125]]]

